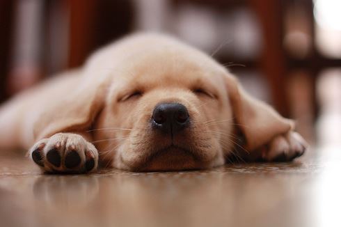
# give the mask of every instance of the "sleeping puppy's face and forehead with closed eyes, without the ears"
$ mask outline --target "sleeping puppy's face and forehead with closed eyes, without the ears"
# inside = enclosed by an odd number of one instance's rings
[[[203,169],[232,148],[225,70],[175,52],[143,56],[115,77],[96,138],[102,159],[135,171]],[[181,53],[180,53],[181,54]]]

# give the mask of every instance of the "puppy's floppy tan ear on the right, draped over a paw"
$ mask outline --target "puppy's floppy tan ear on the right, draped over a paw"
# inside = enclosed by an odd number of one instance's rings
[[[248,95],[232,75],[226,76],[232,112],[246,139],[246,150],[269,143],[274,136],[294,129],[294,122],[280,116],[272,107]]]

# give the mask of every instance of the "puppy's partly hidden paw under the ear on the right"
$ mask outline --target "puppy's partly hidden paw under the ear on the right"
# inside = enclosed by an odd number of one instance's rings
[[[276,136],[262,151],[262,159],[269,162],[288,162],[300,157],[308,143],[297,132]]]

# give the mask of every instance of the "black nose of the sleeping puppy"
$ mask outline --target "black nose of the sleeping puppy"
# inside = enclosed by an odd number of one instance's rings
[[[152,113],[152,126],[167,134],[175,134],[189,126],[189,112],[180,103],[161,103]]]

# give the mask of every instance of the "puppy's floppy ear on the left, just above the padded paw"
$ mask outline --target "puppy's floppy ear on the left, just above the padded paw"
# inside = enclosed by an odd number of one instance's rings
[[[83,75],[82,71],[63,75],[66,85],[54,84],[59,96],[52,95],[38,114],[33,125],[35,141],[58,132],[88,130],[93,123],[103,107],[106,86],[104,79]]]

